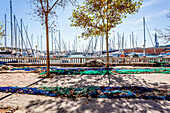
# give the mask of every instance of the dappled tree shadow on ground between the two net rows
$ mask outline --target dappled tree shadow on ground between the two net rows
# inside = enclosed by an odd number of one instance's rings
[[[151,78],[152,79],[152,78]],[[170,89],[170,85],[161,82],[147,81],[136,75],[57,75],[51,80],[41,81],[41,86],[84,87],[84,86],[140,86]]]

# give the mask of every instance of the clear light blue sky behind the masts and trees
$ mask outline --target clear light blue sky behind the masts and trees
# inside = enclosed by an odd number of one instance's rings
[[[82,2],[82,1],[80,1]],[[113,35],[115,34],[116,37],[116,48],[118,48],[117,44],[117,32],[122,36],[124,33],[125,42],[127,48],[130,47],[130,34],[132,31],[135,36],[135,40],[137,40],[137,47],[143,46],[144,40],[144,33],[143,33],[143,17],[145,17],[146,25],[148,27],[148,31],[146,30],[146,47],[153,47],[151,43],[150,36],[154,41],[154,34],[155,29],[164,29],[165,27],[170,25],[170,21],[166,18],[166,13],[170,10],[169,7],[170,0],[143,0],[143,5],[139,9],[139,12],[134,15],[128,15],[127,18],[123,19],[123,23],[117,25],[116,28],[111,30],[110,39],[113,39]],[[24,25],[28,26],[28,35],[31,38],[33,34],[33,48],[35,45],[39,45],[38,49],[41,49],[40,46],[40,36],[42,35],[42,49],[46,49],[46,39],[45,39],[45,29],[41,26],[40,22],[31,20],[32,16],[28,15],[28,13],[32,10],[30,8],[29,0],[12,0],[13,5],[13,15],[16,16],[18,23],[20,23],[20,19],[23,20]],[[74,39],[76,36],[79,36],[82,32],[81,29],[76,29],[75,27],[70,27],[71,21],[68,19],[72,15],[72,10],[75,9],[72,5],[67,5],[65,10],[57,9],[56,12],[58,14],[57,19],[57,28],[60,30],[60,36],[65,41],[67,48],[72,48],[74,45]],[[10,38],[10,0],[0,0],[0,22],[4,23],[4,15],[7,15],[7,46],[11,45],[11,38]],[[115,32],[113,34],[113,31]],[[150,36],[149,36],[150,34]],[[56,32],[55,37],[58,40],[59,34]],[[24,34],[24,36],[26,36]],[[52,39],[50,36],[50,50],[52,50]],[[38,40],[39,37],[39,40]],[[136,39],[137,37],[137,39]],[[26,37],[24,37],[25,39]],[[105,39],[105,38],[104,38]],[[25,39],[25,41],[27,41]],[[39,41],[39,44],[37,42]],[[98,39],[97,43],[97,50],[100,50],[100,40]],[[158,39],[160,45],[165,45],[162,39]],[[0,39],[0,43],[3,43],[4,46],[4,39]],[[28,41],[27,41],[28,43]],[[84,39],[78,39],[78,50],[82,50],[83,48],[87,48],[89,41]],[[95,42],[94,42],[95,43]],[[105,47],[105,41],[104,49]],[[19,45],[19,43],[18,43]],[[70,46],[69,46],[70,45]],[[136,46],[136,44],[135,44]],[[55,44],[53,45],[55,48]]]

